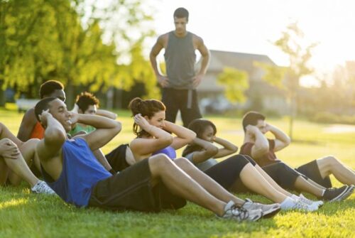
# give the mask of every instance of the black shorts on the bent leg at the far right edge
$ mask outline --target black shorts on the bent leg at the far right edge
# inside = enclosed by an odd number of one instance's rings
[[[295,170],[303,175],[306,175],[308,178],[315,181],[315,183],[322,185],[324,188],[332,188],[332,182],[330,181],[329,176],[322,178],[322,175],[320,175],[320,168],[318,168],[317,161],[306,163],[303,166],[295,168]]]

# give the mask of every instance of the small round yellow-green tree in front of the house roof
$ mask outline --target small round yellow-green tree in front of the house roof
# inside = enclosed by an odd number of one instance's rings
[[[219,85],[224,85],[224,95],[229,102],[245,102],[244,92],[249,88],[248,73],[234,67],[224,67],[217,76]]]

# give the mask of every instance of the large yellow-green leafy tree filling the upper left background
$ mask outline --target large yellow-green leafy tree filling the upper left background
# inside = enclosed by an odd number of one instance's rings
[[[70,105],[76,86],[105,92],[129,89],[138,73],[153,79],[146,68],[131,69],[143,57],[131,49],[153,34],[143,28],[151,19],[141,0],[0,1],[1,89],[38,97],[41,83],[59,80]]]

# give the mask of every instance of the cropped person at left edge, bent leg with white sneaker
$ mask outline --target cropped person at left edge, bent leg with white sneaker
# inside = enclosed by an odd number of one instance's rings
[[[34,157],[37,143],[38,139],[23,143],[0,123],[0,185],[18,185],[23,179],[31,185],[33,193],[55,194],[44,181],[33,175],[26,163]]]

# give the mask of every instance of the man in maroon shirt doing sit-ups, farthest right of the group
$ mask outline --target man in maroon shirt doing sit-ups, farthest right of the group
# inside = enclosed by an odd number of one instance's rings
[[[276,126],[267,124],[265,119],[258,112],[244,115],[244,144],[241,146],[241,154],[251,156],[283,188],[311,193],[331,202],[344,200],[353,193],[354,171],[332,156],[317,159],[296,169],[280,161],[275,152],[288,146],[290,138]],[[267,132],[271,132],[275,139],[268,139]],[[330,174],[347,185],[331,188]]]

